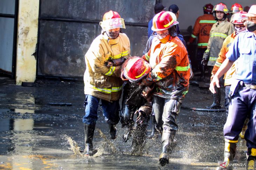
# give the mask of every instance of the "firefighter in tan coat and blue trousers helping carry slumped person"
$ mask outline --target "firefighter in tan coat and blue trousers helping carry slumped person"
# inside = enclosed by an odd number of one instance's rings
[[[97,121],[98,104],[101,100],[103,115],[109,125],[111,139],[117,136],[119,122],[119,99],[123,81],[121,64],[129,57],[130,41],[120,32],[124,21],[117,12],[110,10],[100,22],[102,34],[97,36],[85,54],[85,154],[93,154],[93,135]]]

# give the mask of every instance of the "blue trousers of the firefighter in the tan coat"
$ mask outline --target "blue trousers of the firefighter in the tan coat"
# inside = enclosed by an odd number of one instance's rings
[[[96,124],[98,119],[98,107],[100,98],[85,95],[85,116],[83,117],[83,123],[85,124]],[[103,115],[105,120],[110,125],[116,125],[119,122],[119,101],[108,102],[101,100]]]

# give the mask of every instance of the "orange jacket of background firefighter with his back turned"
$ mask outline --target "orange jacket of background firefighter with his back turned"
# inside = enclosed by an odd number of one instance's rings
[[[204,14],[196,19],[193,32],[189,38],[189,42],[193,43],[198,36],[197,47],[206,48],[210,37],[210,30],[213,24],[216,23],[212,14]]]

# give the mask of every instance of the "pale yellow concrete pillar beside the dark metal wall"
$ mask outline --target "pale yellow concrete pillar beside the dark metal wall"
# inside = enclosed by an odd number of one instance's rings
[[[34,82],[39,0],[19,0],[16,84]]]

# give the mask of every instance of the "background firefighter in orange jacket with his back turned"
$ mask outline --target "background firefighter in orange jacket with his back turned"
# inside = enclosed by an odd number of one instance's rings
[[[203,59],[203,53],[207,49],[207,43],[210,36],[210,30],[214,23],[216,23],[215,18],[213,16],[213,5],[210,3],[206,4],[203,7],[203,15],[199,16],[196,19],[193,32],[187,42],[187,45],[193,43],[196,37],[197,40],[197,54],[196,54],[196,69],[199,69],[201,72],[201,77],[203,76],[203,67],[201,65],[201,61]]]

